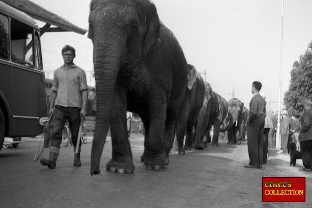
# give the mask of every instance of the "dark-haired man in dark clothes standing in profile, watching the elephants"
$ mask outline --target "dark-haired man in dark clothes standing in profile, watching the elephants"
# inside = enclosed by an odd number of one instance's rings
[[[250,163],[245,168],[262,168],[263,164],[263,143],[264,143],[264,118],[266,116],[266,101],[259,91],[262,84],[258,81],[253,82],[252,93],[254,94],[249,104],[249,118],[247,122],[248,134],[248,154]]]

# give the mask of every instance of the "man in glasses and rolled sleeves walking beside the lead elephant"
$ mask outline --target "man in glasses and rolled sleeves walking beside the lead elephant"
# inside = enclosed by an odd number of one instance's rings
[[[64,64],[54,71],[53,87],[51,92],[49,114],[52,116],[52,133],[50,141],[50,156],[48,159],[41,158],[40,163],[55,169],[56,161],[59,155],[59,145],[62,141],[62,131],[66,120],[72,133],[74,152],[76,150],[78,131],[81,116],[86,115],[87,107],[87,81],[85,72],[76,66],[73,62],[76,57],[76,51],[72,46],[65,45],[62,49],[62,57]],[[81,146],[81,143],[80,143]],[[74,166],[81,166],[80,151]],[[75,153],[76,154],[76,153]]]

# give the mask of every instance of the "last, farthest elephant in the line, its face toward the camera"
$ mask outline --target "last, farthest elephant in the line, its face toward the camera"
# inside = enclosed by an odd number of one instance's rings
[[[237,98],[228,101],[228,120],[227,127],[220,129],[220,132],[228,131],[228,144],[241,144],[242,125],[245,126],[245,116],[248,113],[247,108]]]

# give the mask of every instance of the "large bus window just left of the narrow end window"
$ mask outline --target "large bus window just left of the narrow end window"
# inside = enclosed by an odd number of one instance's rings
[[[11,53],[13,62],[34,67],[33,28],[16,19],[11,19]]]

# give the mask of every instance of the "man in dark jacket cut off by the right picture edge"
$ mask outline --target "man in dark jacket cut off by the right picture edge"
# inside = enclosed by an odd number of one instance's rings
[[[301,149],[302,162],[304,165],[302,171],[312,171],[312,101],[304,100],[303,107],[305,112],[302,115],[299,142]]]

